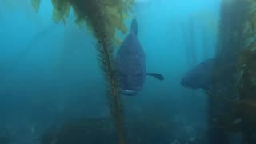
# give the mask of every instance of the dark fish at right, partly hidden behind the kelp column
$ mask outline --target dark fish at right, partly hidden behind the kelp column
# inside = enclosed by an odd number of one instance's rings
[[[208,58],[194,66],[192,70],[188,70],[181,79],[181,85],[194,90],[211,90],[213,85],[220,86],[222,89],[230,86],[232,83],[230,74],[233,73],[235,63],[226,59],[222,66],[217,66],[214,69],[215,62],[216,58]],[[218,78],[213,78],[216,70],[219,72]]]

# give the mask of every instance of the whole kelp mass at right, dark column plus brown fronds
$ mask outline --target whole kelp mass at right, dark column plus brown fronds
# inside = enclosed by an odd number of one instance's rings
[[[242,133],[243,143],[254,143],[256,140],[253,136],[256,131],[256,1],[232,0],[223,3],[226,6],[222,6],[222,13],[226,10],[226,14],[222,14],[219,27],[220,37],[216,55],[218,62],[215,70],[222,73],[219,69],[226,58],[231,58],[231,62],[237,64],[237,67],[230,73],[230,78],[235,81],[232,81],[228,93],[216,91],[216,94],[212,92],[208,94],[210,109],[214,113],[219,103],[226,106],[225,110],[222,109],[222,113],[216,114],[215,126],[222,131]]]

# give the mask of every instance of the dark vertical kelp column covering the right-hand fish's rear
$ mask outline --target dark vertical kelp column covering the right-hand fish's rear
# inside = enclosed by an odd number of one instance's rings
[[[224,0],[220,10],[216,62],[212,76],[214,84],[212,91],[208,94],[210,95],[208,97],[209,124],[214,134],[210,134],[208,143],[214,142],[218,137],[222,137],[220,143],[229,143],[226,132],[231,128],[237,128],[238,125],[232,125],[232,123],[237,120],[236,118],[241,118],[237,108],[241,105],[237,101],[236,66],[230,66],[230,70],[226,70],[226,63],[235,65],[238,53],[244,48],[243,33],[248,18],[248,3],[241,0]],[[223,86],[217,80],[226,71],[229,71],[230,74],[226,75],[227,84],[224,82]],[[217,138],[214,137],[215,135]]]

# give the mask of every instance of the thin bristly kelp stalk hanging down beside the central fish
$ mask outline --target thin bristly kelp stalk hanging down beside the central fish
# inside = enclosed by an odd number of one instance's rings
[[[102,65],[102,71],[105,74],[106,80],[110,85],[110,113],[114,116],[115,125],[118,130],[119,143],[124,144],[124,130],[122,126],[122,103],[120,101],[120,93],[118,90],[118,77],[114,72],[114,35],[108,30],[108,17],[104,13],[104,7],[95,2],[95,9],[99,10],[91,19],[94,26],[95,36],[98,39],[99,62]]]

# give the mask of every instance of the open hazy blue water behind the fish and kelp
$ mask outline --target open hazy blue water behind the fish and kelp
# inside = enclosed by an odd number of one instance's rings
[[[93,36],[86,27],[78,29],[72,13],[64,26],[52,22],[51,12],[50,1],[43,1],[38,13],[29,0],[0,1],[0,132],[8,129],[15,144],[38,143],[44,130],[65,118],[110,117]],[[206,127],[206,97],[180,85],[190,69],[184,26],[194,18],[194,66],[214,56],[218,13],[219,0],[138,1],[134,15],[146,69],[163,74],[165,81],[146,78],[138,95],[123,98],[127,114],[161,115],[182,122],[188,139],[198,137]],[[166,143],[161,139],[156,143]]]

